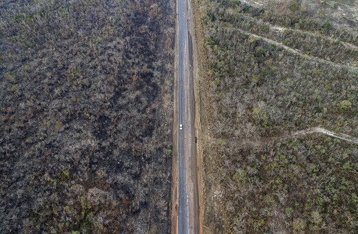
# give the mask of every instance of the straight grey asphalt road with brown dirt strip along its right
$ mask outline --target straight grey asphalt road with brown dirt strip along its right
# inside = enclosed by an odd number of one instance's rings
[[[187,0],[178,3],[178,233],[199,233],[193,53]]]

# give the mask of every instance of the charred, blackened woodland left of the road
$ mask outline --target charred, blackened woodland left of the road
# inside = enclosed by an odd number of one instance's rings
[[[175,1],[0,3],[0,233],[170,230]]]

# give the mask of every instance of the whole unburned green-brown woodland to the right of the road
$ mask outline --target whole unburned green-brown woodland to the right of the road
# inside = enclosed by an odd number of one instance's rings
[[[309,127],[358,137],[357,32],[295,0],[279,10],[197,3],[203,224],[214,233],[357,233],[357,145],[291,137]]]

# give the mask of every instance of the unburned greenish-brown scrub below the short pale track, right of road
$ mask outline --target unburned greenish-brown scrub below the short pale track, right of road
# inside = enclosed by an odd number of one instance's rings
[[[260,147],[211,144],[204,155],[206,184],[222,194],[213,200],[222,207],[222,224],[212,226],[219,233],[358,228],[355,145],[316,134]]]

